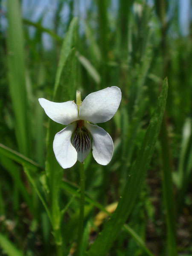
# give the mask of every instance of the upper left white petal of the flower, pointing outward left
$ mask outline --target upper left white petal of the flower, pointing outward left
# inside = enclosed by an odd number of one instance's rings
[[[68,125],[79,120],[77,105],[73,101],[58,103],[40,98],[39,103],[47,116],[59,124]]]

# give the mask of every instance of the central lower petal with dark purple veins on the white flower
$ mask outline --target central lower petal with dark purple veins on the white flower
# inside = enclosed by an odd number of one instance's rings
[[[91,150],[89,132],[85,127],[79,129],[77,125],[76,131],[74,132],[72,145],[77,151],[77,160],[83,163],[84,159],[87,157]]]

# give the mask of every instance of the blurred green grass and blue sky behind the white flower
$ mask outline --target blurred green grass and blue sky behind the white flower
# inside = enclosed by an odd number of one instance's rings
[[[113,138],[111,163],[99,166],[92,153],[85,160],[85,255],[106,221],[103,216],[96,224],[97,213],[106,206],[112,213],[110,204],[119,201],[165,77],[169,91],[161,132],[127,221],[137,237],[122,229],[107,255],[192,255],[190,1],[0,0],[0,6],[0,255],[56,255],[37,189],[48,207],[50,193],[59,197],[63,255],[75,251],[79,163],[59,176],[58,163],[48,161],[53,179],[62,178],[57,194],[44,171],[46,152],[52,154],[47,127],[55,123],[48,124],[38,98],[64,102],[75,100],[76,90],[82,99],[108,86],[122,91],[116,115],[100,125]],[[57,83],[73,17],[75,39]],[[48,148],[62,128],[49,133]]]

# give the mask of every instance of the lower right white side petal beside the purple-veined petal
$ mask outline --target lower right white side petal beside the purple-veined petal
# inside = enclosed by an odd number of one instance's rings
[[[93,137],[93,157],[97,163],[107,165],[113,156],[113,140],[101,127],[89,123],[84,124]]]

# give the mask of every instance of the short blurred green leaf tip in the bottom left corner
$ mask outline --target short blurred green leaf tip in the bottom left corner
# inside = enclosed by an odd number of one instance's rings
[[[6,251],[9,256],[24,256],[23,253],[18,250],[15,245],[9,241],[3,234],[0,233],[0,245],[3,250]]]

